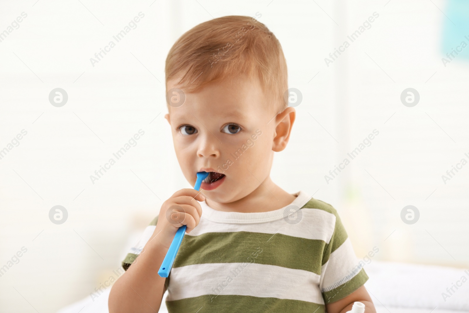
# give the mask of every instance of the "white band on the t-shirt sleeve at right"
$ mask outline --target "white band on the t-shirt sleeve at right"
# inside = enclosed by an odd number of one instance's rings
[[[329,256],[329,260],[321,267],[321,282],[319,287],[323,292],[337,288],[350,281],[361,267],[353,250],[350,239],[347,238]]]

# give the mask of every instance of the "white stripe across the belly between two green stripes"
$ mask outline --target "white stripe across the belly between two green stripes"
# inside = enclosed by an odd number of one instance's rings
[[[249,262],[207,263],[173,267],[169,277],[166,301],[241,295],[324,304],[320,276],[301,269]]]

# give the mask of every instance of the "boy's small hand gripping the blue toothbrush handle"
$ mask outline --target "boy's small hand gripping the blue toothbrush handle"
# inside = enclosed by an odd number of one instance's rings
[[[159,234],[158,240],[169,249],[176,231],[186,225],[186,233],[194,229],[200,221],[202,207],[198,201],[204,201],[205,196],[195,189],[181,189],[176,191],[171,198],[163,202],[159,210],[159,218],[154,231]]]

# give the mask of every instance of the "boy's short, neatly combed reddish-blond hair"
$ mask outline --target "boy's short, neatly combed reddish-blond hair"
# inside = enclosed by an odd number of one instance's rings
[[[165,72],[166,88],[168,80],[182,77],[177,84],[185,92],[229,77],[257,76],[276,111],[287,107],[287,61],[280,42],[249,16],[223,16],[185,32],[169,50]]]

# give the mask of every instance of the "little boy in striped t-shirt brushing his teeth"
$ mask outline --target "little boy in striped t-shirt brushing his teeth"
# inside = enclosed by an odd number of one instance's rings
[[[109,312],[345,313],[375,308],[337,211],[270,178],[274,152],[295,122],[279,41],[247,16],[201,23],[166,59],[174,149],[193,186],[167,199],[114,283]],[[200,201],[200,202],[198,202]],[[170,275],[159,267],[179,227],[186,235]]]

